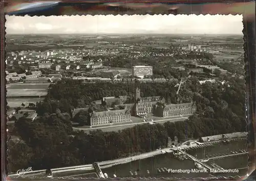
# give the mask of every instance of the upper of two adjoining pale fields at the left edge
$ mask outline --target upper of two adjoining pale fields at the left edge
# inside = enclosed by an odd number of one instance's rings
[[[36,96],[46,96],[47,89],[8,89],[7,97],[36,97]]]

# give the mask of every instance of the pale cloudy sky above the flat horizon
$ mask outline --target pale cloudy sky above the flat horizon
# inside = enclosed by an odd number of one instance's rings
[[[242,15],[7,15],[6,33],[242,35],[242,19]]]

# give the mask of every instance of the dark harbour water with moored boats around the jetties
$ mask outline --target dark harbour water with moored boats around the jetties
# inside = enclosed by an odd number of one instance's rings
[[[221,148],[221,149],[220,149]],[[203,159],[204,149],[205,153],[208,155],[214,155],[217,153],[230,153],[230,151],[235,151],[239,149],[246,149],[245,141],[230,142],[228,144],[219,143],[211,147],[194,149],[187,151],[197,155],[197,158]],[[215,163],[224,169],[237,169],[247,167],[248,161],[246,159],[247,155],[238,157],[229,157],[220,160],[210,160],[206,162],[207,165]],[[113,174],[117,177],[208,177],[209,174],[213,173],[168,173],[165,171],[158,171],[158,168],[166,168],[173,170],[191,170],[196,168],[193,161],[184,160],[180,161],[172,156],[172,153],[165,153],[158,155],[156,157],[151,157],[143,160],[133,161],[127,164],[116,165],[110,168],[102,169],[103,173],[107,173],[109,177],[113,177]],[[133,175],[130,173],[133,173]],[[147,172],[149,171],[149,173]],[[137,172],[137,175],[135,174]],[[215,176],[237,176],[245,175],[247,173],[246,169],[240,169],[238,173],[215,173]]]

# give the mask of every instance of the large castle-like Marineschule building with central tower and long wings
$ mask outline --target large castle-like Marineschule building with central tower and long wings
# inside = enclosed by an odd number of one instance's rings
[[[102,100],[95,101],[96,104],[111,105],[118,101],[120,105],[115,105],[114,109],[108,111],[89,111],[89,108],[74,109],[72,117],[80,111],[86,111],[88,114],[88,126],[99,125],[113,125],[115,123],[131,122],[131,116],[146,118],[150,114],[158,117],[172,117],[191,115],[196,112],[196,105],[194,102],[185,104],[171,104],[165,105],[164,99],[160,96],[155,97],[140,97],[140,89],[137,88],[135,92],[135,103],[124,104],[127,96],[104,97]],[[117,109],[118,108],[118,109]]]

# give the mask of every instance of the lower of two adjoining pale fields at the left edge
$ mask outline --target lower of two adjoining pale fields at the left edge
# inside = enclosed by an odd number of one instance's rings
[[[25,105],[25,107],[29,106],[29,103],[34,103],[42,101],[44,98],[40,97],[7,97],[7,105],[10,108],[17,108],[21,106],[22,104]]]

